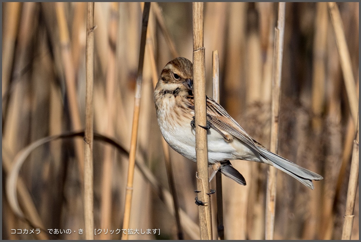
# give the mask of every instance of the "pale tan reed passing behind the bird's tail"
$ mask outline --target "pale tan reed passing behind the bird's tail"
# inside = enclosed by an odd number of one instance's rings
[[[275,28],[275,48],[273,62],[272,78],[272,116],[271,116],[271,141],[270,150],[277,153],[278,150],[278,122],[279,122],[279,104],[281,97],[281,76],[282,76],[282,57],[283,57],[283,39],[284,39],[284,20],[286,13],[286,3],[278,3],[278,21]],[[266,193],[266,221],[265,238],[274,239],[274,215],[276,203],[276,176],[277,170],[270,166],[267,178]]]

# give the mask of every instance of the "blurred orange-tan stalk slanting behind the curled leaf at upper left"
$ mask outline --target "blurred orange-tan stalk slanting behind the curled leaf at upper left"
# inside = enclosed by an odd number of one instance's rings
[[[80,120],[77,93],[75,88],[75,70],[70,53],[69,30],[65,19],[64,3],[56,3],[56,15],[59,26],[61,56],[63,61],[63,68],[65,71],[66,92],[69,101],[70,119],[73,128],[79,131],[80,129],[82,129],[82,124]],[[75,154],[77,156],[79,173],[80,173],[79,179],[82,182],[84,177],[83,144],[80,139],[75,139],[74,142],[75,142]]]

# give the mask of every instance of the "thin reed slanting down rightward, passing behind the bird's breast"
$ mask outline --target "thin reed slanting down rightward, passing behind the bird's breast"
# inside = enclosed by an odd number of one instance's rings
[[[154,7],[154,5],[152,5],[152,7]],[[148,56],[149,56],[149,59],[151,62],[153,88],[155,88],[157,85],[157,82],[158,82],[158,74],[157,74],[157,66],[156,66],[156,60],[155,60],[155,51],[153,48],[153,40],[152,40],[151,36],[152,36],[152,33],[149,30],[147,32],[146,49],[147,49],[147,53],[148,53]],[[175,211],[175,213],[174,213],[175,222],[177,224],[177,230],[178,230],[177,237],[178,237],[178,239],[184,239],[182,225],[181,225],[181,219],[179,217],[179,204],[178,204],[177,190],[175,189],[175,182],[174,182],[174,177],[173,177],[172,163],[170,160],[169,146],[163,137],[161,137],[161,140],[162,140],[164,162],[165,162],[165,168],[166,168],[168,182],[169,182],[169,188],[170,188],[170,192],[171,192],[172,198],[173,198],[173,206],[174,206],[174,211]]]

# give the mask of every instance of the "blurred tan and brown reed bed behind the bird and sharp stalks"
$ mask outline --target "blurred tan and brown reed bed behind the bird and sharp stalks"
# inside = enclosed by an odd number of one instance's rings
[[[192,60],[192,4],[159,3],[175,49],[169,47],[151,4],[148,31],[159,76],[177,52]],[[358,96],[358,3],[338,4],[351,54]],[[269,147],[275,3],[206,3],[204,47],[207,94],[212,96],[212,50],[218,50],[221,104],[257,141]],[[95,3],[96,133],[126,150],[134,106],[142,10],[139,3]],[[3,3],[3,239],[83,239],[83,141],[56,140],[34,149],[23,164],[18,197],[25,218],[10,208],[5,181],[16,154],[34,141],[84,128],[86,3]],[[148,37],[149,37],[148,36]],[[151,58],[145,52],[136,158],[168,189],[161,135],[153,104]],[[324,177],[310,190],[278,172],[275,239],[340,239],[355,124],[343,82],[327,3],[287,3],[280,106],[279,154]],[[198,223],[194,203],[196,164],[170,152],[179,205],[188,225]],[[128,157],[94,142],[94,219],[108,229],[95,239],[120,239]],[[247,186],[223,177],[226,239],[264,239],[268,167],[232,164]],[[213,180],[210,184],[215,188]],[[170,203],[135,170],[131,229],[177,239]],[[161,193],[165,194],[165,193]],[[216,238],[216,195],[212,197]],[[359,238],[358,188],[352,239]],[[184,215],[184,214],[183,214]],[[186,220],[185,220],[186,221]],[[184,225],[183,225],[184,226]],[[11,229],[44,229],[12,234]],[[192,227],[191,227],[192,228]],[[48,229],[71,229],[49,234]],[[186,239],[197,238],[184,229]],[[76,232],[73,232],[76,230]],[[198,230],[199,231],[199,230]],[[194,231],[193,231],[194,232]],[[199,236],[199,233],[198,233]]]

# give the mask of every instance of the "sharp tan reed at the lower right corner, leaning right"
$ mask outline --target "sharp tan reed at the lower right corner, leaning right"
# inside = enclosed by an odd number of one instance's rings
[[[347,189],[346,211],[343,220],[341,239],[351,239],[353,218],[355,217],[355,215],[353,215],[353,211],[355,209],[355,199],[356,199],[356,191],[358,185],[358,169],[359,169],[358,126],[359,126],[359,120],[357,119],[356,138],[353,141],[351,169],[350,169],[350,177],[349,177],[348,189]]]

